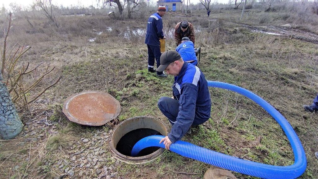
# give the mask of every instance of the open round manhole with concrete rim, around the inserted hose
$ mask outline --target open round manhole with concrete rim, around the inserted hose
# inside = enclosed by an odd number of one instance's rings
[[[129,118],[118,124],[110,134],[109,147],[112,155],[125,163],[142,164],[158,158],[163,148],[148,147],[143,149],[137,157],[130,153],[135,143],[150,135],[168,135],[168,127],[155,118],[140,116]]]

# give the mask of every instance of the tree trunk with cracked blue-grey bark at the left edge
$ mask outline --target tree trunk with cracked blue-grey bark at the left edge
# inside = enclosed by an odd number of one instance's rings
[[[22,121],[0,73],[0,135],[3,139],[13,139],[22,129]]]

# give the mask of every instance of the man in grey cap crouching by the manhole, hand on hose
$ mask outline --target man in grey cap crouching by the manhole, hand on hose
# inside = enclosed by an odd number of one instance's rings
[[[156,71],[163,70],[175,76],[173,98],[161,97],[158,101],[160,111],[172,125],[171,132],[160,141],[169,150],[172,143],[191,131],[191,126],[203,124],[210,118],[211,98],[202,71],[183,61],[175,50],[161,55],[160,66]]]

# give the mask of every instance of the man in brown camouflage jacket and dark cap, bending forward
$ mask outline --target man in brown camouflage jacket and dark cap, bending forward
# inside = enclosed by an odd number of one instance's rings
[[[189,37],[189,39],[194,44],[194,27],[190,22],[182,21],[179,22],[175,27],[175,40],[177,46],[181,44],[181,40],[183,37]]]

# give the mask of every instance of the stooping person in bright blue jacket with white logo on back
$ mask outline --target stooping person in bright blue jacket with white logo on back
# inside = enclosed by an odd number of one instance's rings
[[[188,63],[192,63],[197,66],[197,56],[194,51],[193,42],[189,39],[189,37],[183,37],[181,44],[176,47],[176,51],[181,55],[183,61]]]

